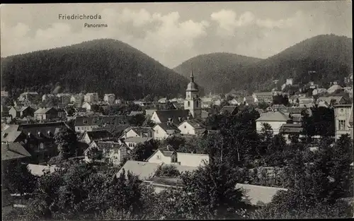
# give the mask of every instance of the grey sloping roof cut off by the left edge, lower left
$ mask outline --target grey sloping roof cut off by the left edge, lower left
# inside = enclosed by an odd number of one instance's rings
[[[1,143],[1,161],[23,157],[30,157],[30,153],[20,143]]]

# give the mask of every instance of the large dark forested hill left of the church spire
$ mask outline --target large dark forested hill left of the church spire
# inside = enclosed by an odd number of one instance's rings
[[[1,58],[1,90],[49,93],[115,93],[124,99],[184,95],[188,79],[118,40],[92,40],[68,47]]]

